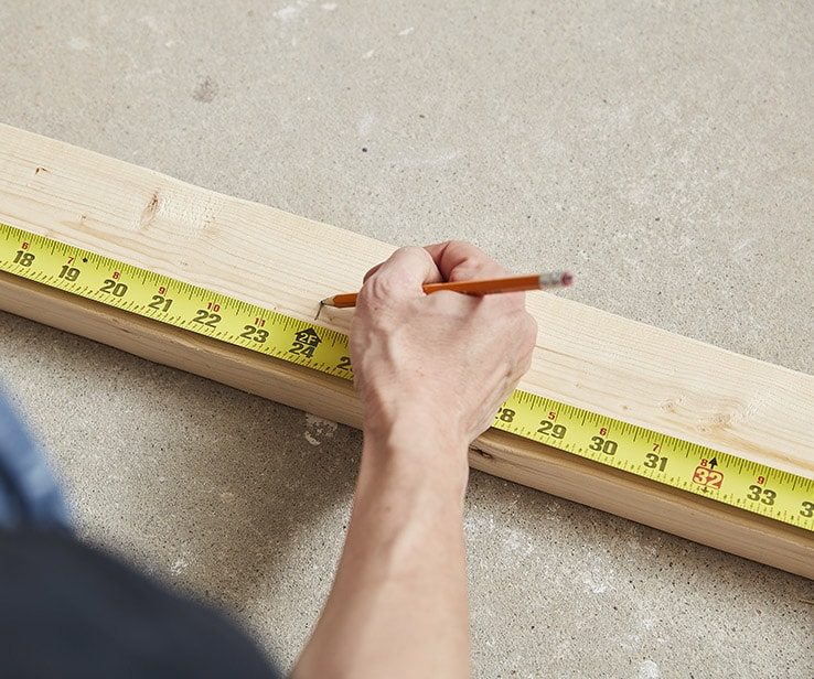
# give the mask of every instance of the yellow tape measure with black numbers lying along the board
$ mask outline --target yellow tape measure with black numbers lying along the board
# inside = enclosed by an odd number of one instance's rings
[[[347,336],[0,223],[0,270],[161,323],[352,379]],[[517,390],[494,424],[814,531],[814,479]]]

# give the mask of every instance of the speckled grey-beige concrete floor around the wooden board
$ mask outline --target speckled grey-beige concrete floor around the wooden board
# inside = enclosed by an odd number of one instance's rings
[[[193,7],[196,4],[197,7]],[[814,373],[814,8],[0,2],[0,121]],[[81,531],[283,666],[361,438],[0,314]],[[474,676],[806,677],[814,584],[473,473]]]

